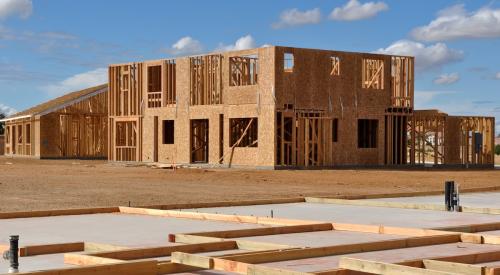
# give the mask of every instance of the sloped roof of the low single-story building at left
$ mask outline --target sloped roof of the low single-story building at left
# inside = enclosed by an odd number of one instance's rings
[[[108,87],[108,84],[102,84],[102,85],[95,86],[92,88],[87,88],[85,90],[65,94],[65,95],[60,96],[58,98],[54,98],[54,99],[49,100],[47,102],[44,102],[42,104],[36,105],[36,106],[31,107],[29,109],[26,109],[24,111],[13,114],[13,115],[9,116],[7,119],[21,117],[21,116],[37,115],[37,114],[43,113],[47,110],[57,109],[58,106],[63,107],[65,104],[67,104],[69,102],[73,102],[73,101],[78,100],[78,98],[90,95],[92,93],[99,92],[101,90],[103,90],[103,92],[104,92],[105,91],[104,89],[106,89],[107,87]]]

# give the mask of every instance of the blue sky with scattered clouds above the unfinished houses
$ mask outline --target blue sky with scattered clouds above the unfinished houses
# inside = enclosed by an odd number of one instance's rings
[[[499,1],[0,0],[0,110],[110,63],[265,44],[414,55],[417,108],[500,122]]]

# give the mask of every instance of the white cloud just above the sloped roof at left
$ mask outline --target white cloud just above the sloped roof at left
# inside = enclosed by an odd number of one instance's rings
[[[83,90],[108,82],[108,69],[99,68],[93,71],[76,74],[63,81],[42,87],[50,96],[61,96],[63,94]]]

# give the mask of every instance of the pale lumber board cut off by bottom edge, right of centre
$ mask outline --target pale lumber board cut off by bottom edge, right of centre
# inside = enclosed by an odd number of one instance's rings
[[[428,270],[416,267],[409,267],[397,264],[388,264],[383,262],[355,259],[342,257],[339,262],[339,267],[343,269],[366,272],[380,275],[459,275],[460,273],[443,272],[436,270]]]

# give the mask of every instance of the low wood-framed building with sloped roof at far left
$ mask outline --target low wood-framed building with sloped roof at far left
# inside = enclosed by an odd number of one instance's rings
[[[104,84],[72,92],[3,119],[5,155],[106,158],[107,91]]]

